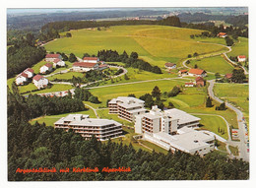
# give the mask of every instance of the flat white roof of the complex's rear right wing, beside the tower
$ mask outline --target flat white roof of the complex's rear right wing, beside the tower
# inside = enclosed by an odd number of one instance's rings
[[[167,109],[164,110],[165,114],[168,114],[173,119],[179,119],[178,124],[184,124],[184,123],[189,123],[192,121],[200,121],[201,118],[190,115],[189,113],[173,108],[173,109]]]

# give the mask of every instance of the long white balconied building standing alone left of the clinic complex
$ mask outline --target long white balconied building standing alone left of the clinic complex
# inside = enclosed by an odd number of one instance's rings
[[[83,114],[69,114],[60,118],[54,125],[55,129],[73,129],[87,140],[93,135],[100,141],[122,136],[122,124],[109,119],[90,118],[89,115]]]

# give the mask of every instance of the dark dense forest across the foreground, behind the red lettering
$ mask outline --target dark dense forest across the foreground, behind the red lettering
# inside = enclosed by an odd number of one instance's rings
[[[58,99],[62,100],[60,97]],[[229,159],[218,153],[210,153],[206,157],[181,152],[167,155],[149,153],[136,151],[131,144],[115,144],[110,140],[101,143],[95,137],[86,141],[72,129],[65,132],[46,127],[44,123],[31,125],[28,123],[31,115],[27,113],[30,109],[24,106],[23,100],[26,99],[19,94],[8,93],[9,181],[208,180],[249,177],[248,162]],[[50,104],[45,102],[43,105]],[[19,172],[21,169],[40,167],[54,168],[56,172]],[[97,167],[98,172],[73,172],[73,167]],[[101,171],[103,167],[130,167],[131,171],[107,173]],[[67,168],[69,172],[59,172]]]

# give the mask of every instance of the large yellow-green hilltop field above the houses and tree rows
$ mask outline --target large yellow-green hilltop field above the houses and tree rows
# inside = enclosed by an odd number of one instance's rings
[[[59,38],[45,45],[48,51],[73,52],[82,57],[84,53],[96,54],[100,49],[112,49],[128,54],[138,52],[140,56],[165,61],[185,58],[189,53],[211,53],[224,50],[223,46],[198,43],[189,37],[199,30],[165,26],[117,26],[106,31],[71,31],[72,37]],[[226,50],[226,49],[225,49]]]

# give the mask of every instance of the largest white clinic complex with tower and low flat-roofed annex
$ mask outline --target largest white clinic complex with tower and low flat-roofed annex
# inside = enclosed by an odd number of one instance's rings
[[[136,116],[135,132],[165,150],[204,156],[214,150],[215,138],[193,129],[199,120],[175,108],[161,111],[158,106],[153,106],[149,113]]]

